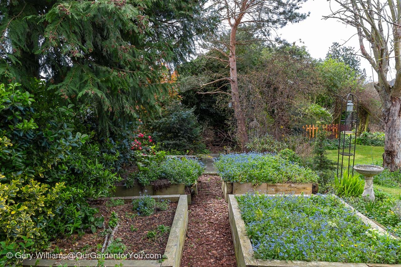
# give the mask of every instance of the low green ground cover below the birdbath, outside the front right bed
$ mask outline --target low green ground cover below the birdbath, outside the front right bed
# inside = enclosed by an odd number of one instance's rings
[[[344,199],[356,210],[380,223],[387,231],[401,237],[401,218],[395,212],[399,199],[375,190],[375,201],[365,200],[362,196],[348,197]]]

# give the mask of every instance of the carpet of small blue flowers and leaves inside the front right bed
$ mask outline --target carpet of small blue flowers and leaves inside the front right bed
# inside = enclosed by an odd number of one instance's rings
[[[371,229],[335,196],[236,198],[257,259],[401,263],[401,239]]]

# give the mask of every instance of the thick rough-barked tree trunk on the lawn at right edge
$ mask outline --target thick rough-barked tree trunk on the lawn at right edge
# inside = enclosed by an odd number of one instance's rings
[[[383,167],[391,172],[401,168],[401,99],[391,97],[385,110]]]

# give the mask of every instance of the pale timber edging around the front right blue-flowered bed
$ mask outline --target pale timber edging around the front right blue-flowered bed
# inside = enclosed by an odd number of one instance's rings
[[[267,194],[267,195],[275,196],[273,194]],[[256,259],[253,253],[251,240],[247,236],[245,222],[241,217],[241,212],[239,210],[238,202],[235,199],[235,196],[241,196],[241,194],[228,195],[228,210],[229,210],[228,216],[231,228],[231,235],[233,237],[233,243],[234,243],[235,259],[237,261],[237,266],[239,267],[303,267],[303,266],[401,267],[401,265],[399,264],[341,263],[341,262],[326,262],[326,261],[285,261],[285,260]],[[352,206],[348,204],[346,204],[346,206],[348,206],[351,209],[354,209],[352,208]],[[368,223],[369,225],[371,225],[371,227],[376,228],[379,232],[387,233],[385,229],[377,225],[375,222],[373,222],[360,212],[356,212],[356,214],[363,220],[363,222]]]

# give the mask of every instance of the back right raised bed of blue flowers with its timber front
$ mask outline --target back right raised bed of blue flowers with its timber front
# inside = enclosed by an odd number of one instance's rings
[[[242,153],[217,158],[215,166],[221,177],[226,201],[229,194],[316,194],[318,176],[310,168],[294,161],[292,150],[282,154]]]

